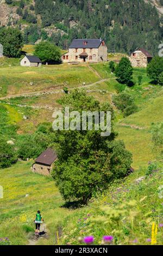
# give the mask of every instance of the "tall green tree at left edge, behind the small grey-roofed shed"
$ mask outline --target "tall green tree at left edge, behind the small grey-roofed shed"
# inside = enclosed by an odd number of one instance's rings
[[[0,44],[3,45],[4,56],[17,58],[21,55],[23,38],[17,28],[0,28]]]

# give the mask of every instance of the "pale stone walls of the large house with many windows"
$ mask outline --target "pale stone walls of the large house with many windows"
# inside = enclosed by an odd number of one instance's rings
[[[62,62],[79,62],[84,63],[84,59],[80,58],[80,54],[84,52],[84,48],[78,48],[76,52],[76,48],[69,49],[69,52],[65,53],[63,56],[65,56],[65,59],[63,59],[62,56]],[[101,44],[99,48],[85,48],[85,53],[88,54],[88,57],[85,59],[86,63],[97,63],[97,62],[103,62],[108,60],[108,50],[107,47]],[[66,59],[66,56],[68,56],[68,59]],[[90,57],[91,56],[91,57]]]

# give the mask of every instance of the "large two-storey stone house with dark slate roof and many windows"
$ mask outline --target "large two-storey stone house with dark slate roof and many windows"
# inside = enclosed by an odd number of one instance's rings
[[[61,60],[63,63],[106,62],[108,48],[103,39],[74,39]]]

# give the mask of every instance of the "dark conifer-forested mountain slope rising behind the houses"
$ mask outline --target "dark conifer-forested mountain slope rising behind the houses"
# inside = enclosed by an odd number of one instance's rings
[[[156,8],[161,8],[162,0],[5,0],[6,3],[16,7],[19,16],[15,21],[9,20],[8,25],[20,26],[26,43],[48,36],[67,48],[74,38],[102,37],[109,52],[130,53],[138,46],[158,52],[162,15]]]

